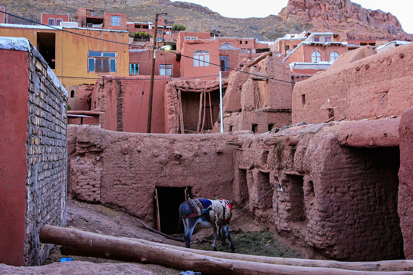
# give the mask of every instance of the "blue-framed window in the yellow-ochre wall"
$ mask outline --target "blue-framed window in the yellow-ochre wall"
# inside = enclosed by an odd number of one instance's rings
[[[88,72],[116,72],[116,52],[88,51]]]

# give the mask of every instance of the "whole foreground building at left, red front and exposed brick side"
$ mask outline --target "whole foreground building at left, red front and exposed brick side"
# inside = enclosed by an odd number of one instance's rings
[[[41,265],[66,225],[67,92],[26,38],[0,37],[0,263]]]

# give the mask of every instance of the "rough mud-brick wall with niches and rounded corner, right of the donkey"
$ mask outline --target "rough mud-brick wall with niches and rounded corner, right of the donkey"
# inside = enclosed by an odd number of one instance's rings
[[[282,239],[299,244],[306,257],[403,259],[397,213],[399,148],[344,146],[349,137],[397,139],[399,122],[333,123],[316,133],[296,134],[299,143],[281,151],[263,140],[285,138],[306,126],[239,136],[250,141],[243,150],[234,150],[234,202],[251,202],[275,187],[249,210]]]

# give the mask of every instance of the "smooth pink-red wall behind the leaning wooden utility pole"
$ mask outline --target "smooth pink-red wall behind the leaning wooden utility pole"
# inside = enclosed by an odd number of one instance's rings
[[[100,115],[103,129],[146,133],[150,76],[123,78],[124,80],[104,80],[104,82],[98,80],[98,85],[95,85],[92,92],[92,109],[97,108],[99,111],[106,112]],[[166,81],[170,78],[167,76],[156,78],[159,80],[154,80],[152,133],[163,134],[165,132],[164,91]],[[142,99],[144,85],[145,92]]]

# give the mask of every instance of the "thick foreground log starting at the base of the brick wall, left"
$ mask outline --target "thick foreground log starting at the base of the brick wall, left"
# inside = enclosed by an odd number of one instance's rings
[[[218,258],[71,228],[45,225],[40,230],[39,238],[43,243],[97,252],[97,256],[109,254],[140,263],[155,263],[185,270],[199,270],[203,273],[228,274],[233,270],[231,263]]]

